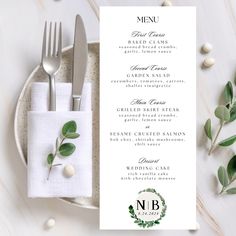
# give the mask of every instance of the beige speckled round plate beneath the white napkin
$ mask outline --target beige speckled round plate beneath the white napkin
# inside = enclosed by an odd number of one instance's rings
[[[62,65],[57,74],[57,82],[71,82],[72,76],[72,47],[63,50]],[[92,109],[93,109],[93,195],[91,198],[60,198],[75,206],[97,209],[99,205],[99,156],[98,156],[98,87],[99,87],[99,44],[89,43],[88,66],[86,81],[92,82]],[[32,82],[48,82],[47,76],[40,66],[30,74],[16,106],[15,139],[20,158],[27,166],[27,112],[30,110],[30,88]]]

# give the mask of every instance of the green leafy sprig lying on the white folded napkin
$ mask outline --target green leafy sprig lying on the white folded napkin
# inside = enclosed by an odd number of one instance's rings
[[[76,139],[80,135],[76,133],[77,125],[76,122],[71,120],[64,124],[62,127],[60,136],[56,139],[56,147],[54,153],[49,153],[47,156],[47,164],[49,166],[48,177],[49,180],[50,173],[53,167],[59,166],[61,164],[53,164],[56,157],[65,158],[73,154],[76,146],[73,143],[64,143],[66,139]]]

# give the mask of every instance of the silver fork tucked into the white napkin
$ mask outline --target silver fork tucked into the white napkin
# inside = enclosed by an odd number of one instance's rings
[[[62,50],[62,29],[59,24],[59,32],[57,33],[57,23],[54,24],[54,33],[52,41],[52,22],[49,24],[49,34],[47,37],[47,22],[44,26],[43,49],[41,66],[47,73],[49,78],[49,111],[56,111],[56,87],[55,75],[61,65]]]

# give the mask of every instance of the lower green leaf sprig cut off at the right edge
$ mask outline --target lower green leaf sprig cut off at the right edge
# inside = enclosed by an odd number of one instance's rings
[[[222,185],[222,189],[219,194],[236,194],[236,187],[230,187],[236,180],[236,155],[230,159],[227,169],[223,166],[219,167],[218,179]]]

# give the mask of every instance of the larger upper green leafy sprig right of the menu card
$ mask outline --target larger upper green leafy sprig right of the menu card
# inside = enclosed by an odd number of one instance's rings
[[[208,155],[211,155],[216,146],[229,146],[236,141],[236,135],[217,143],[219,134],[223,126],[227,123],[233,122],[236,119],[236,97],[234,96],[233,86],[230,81],[225,85],[224,91],[224,105],[219,105],[215,109],[215,117],[219,119],[219,128],[216,131],[214,138],[212,135],[211,119],[208,119],[204,125],[204,131],[208,139],[211,141]]]

